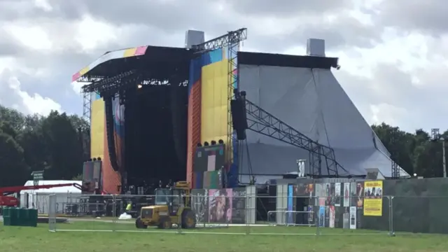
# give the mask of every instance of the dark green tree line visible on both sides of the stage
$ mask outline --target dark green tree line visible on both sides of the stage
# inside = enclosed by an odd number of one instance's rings
[[[405,132],[386,123],[372,129],[407,173],[442,176],[442,141],[424,130]],[[90,155],[89,132],[76,115],[25,115],[0,106],[0,187],[23,185],[34,171],[44,171],[48,180],[80,179]],[[440,137],[448,139],[448,131]]]

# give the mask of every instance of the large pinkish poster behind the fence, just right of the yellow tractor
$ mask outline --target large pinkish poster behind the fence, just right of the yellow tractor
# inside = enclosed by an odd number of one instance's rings
[[[209,190],[209,222],[232,221],[232,189]]]

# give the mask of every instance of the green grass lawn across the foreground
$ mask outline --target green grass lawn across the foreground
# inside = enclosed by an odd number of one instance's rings
[[[57,229],[83,230],[133,230],[134,225],[104,223],[99,221],[76,221],[57,224]],[[147,231],[155,231],[148,229]],[[388,237],[364,230],[323,229],[321,236],[314,235],[226,235],[245,233],[247,227],[197,229],[192,232],[220,232],[206,235],[155,232],[48,232],[48,225],[38,228],[3,227],[0,224],[1,252],[242,252],[242,251],[447,251],[446,235],[400,235]],[[311,234],[314,228],[297,227],[251,227],[251,233],[297,233]],[[362,233],[365,235],[357,235]]]

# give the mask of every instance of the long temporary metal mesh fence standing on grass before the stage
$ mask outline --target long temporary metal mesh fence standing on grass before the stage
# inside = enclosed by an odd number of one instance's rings
[[[157,202],[179,216],[169,227],[155,222],[137,227],[141,209],[156,204],[152,195],[94,195],[90,200],[71,202],[60,208],[60,195],[48,196],[48,223],[52,232],[174,232],[232,235],[394,235],[394,209],[400,209],[400,197],[271,197],[254,196],[243,190],[193,190],[191,210],[195,228],[182,228],[186,220],[181,211],[185,199]],[[398,200],[397,200],[398,199]],[[396,202],[395,202],[396,200]],[[448,202],[448,198],[446,199]],[[351,203],[353,202],[355,206]],[[264,202],[267,202],[266,204]],[[272,207],[272,202],[276,202]],[[281,204],[281,202],[285,204]],[[128,207],[128,206],[131,207]],[[367,212],[366,212],[367,207]],[[369,210],[370,209],[370,210]],[[370,212],[369,212],[370,211]],[[147,214],[147,213],[146,213]],[[151,213],[152,214],[152,213]],[[159,217],[162,217],[159,212]],[[151,218],[151,216],[146,216]],[[410,216],[409,216],[410,217]],[[403,217],[400,217],[403,218]],[[155,221],[160,218],[155,218]]]

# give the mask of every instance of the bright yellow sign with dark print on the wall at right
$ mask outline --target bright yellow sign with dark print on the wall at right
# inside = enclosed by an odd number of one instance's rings
[[[382,216],[383,181],[364,182],[364,216]]]

